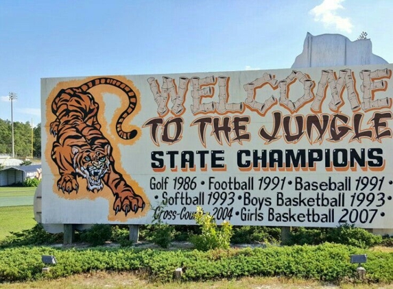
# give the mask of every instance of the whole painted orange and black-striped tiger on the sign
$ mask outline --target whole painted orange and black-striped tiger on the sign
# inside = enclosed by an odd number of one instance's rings
[[[98,85],[115,86],[128,96],[128,108],[119,116],[116,131],[120,138],[131,140],[137,131],[123,131],[123,121],[136,108],[136,95],[130,86],[110,77],[99,77],[79,87],[62,89],[51,103],[56,120],[50,124],[50,133],[55,136],[51,158],[56,163],[60,178],[58,190],[69,194],[78,193],[77,177],[87,182],[87,190],[99,192],[108,186],[115,197],[115,214],[123,211],[138,212],[145,208],[145,201],[127,184],[121,173],[115,169],[112,147],[102,134],[97,120],[99,105],[88,90]]]

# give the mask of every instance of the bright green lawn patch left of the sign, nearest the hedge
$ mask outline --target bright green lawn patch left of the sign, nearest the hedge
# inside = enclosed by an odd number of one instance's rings
[[[22,231],[36,225],[32,205],[0,208],[0,240],[10,231]]]

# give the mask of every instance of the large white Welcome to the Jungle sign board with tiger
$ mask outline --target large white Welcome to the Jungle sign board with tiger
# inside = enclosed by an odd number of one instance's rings
[[[42,79],[43,223],[392,228],[392,64]]]

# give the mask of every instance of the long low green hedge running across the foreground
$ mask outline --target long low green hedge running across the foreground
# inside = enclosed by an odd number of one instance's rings
[[[160,251],[103,248],[54,249],[19,247],[0,251],[0,282],[67,277],[89,271],[143,271],[155,281],[172,281],[176,268],[184,280],[244,276],[282,276],[340,281],[354,278],[350,255],[366,253],[363,264],[370,282],[393,282],[393,253],[379,253],[340,244],[267,247],[216,251]],[[55,255],[58,264],[41,273],[41,255]]]

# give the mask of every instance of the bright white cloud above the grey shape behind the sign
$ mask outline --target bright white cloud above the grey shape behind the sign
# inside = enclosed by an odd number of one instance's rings
[[[324,0],[322,4],[315,6],[310,10],[310,14],[314,16],[314,21],[322,22],[324,27],[335,27],[342,32],[352,32],[353,24],[350,18],[344,18],[337,15],[337,10],[344,10],[341,3],[344,0]]]

